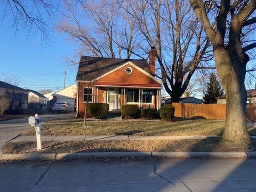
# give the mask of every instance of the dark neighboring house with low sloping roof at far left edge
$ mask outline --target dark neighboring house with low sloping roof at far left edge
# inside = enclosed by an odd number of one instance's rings
[[[7,93],[10,93],[12,96],[15,95],[16,100],[22,99],[23,104],[21,106],[21,109],[27,109],[28,91],[26,89],[22,89],[21,87],[0,81],[0,96],[6,95]],[[19,93],[21,97],[19,97]]]

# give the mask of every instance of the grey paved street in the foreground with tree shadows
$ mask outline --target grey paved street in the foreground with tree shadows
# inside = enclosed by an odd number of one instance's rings
[[[256,191],[255,159],[0,164],[0,191]]]

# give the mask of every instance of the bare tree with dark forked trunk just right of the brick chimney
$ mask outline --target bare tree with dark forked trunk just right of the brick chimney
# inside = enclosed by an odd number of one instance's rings
[[[210,41],[186,1],[139,0],[130,6],[146,42],[156,47],[165,90],[178,102],[199,63],[212,58]]]

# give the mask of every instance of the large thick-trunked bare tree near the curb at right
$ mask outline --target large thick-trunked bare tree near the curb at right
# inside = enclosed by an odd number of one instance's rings
[[[255,32],[256,1],[189,2],[212,43],[215,66],[226,92],[226,128],[222,139],[247,147],[251,138],[246,127],[244,80],[246,64],[250,60],[248,52],[256,47],[255,38],[250,35]]]

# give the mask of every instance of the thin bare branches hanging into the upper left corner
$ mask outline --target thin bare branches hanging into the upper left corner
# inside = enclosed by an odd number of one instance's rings
[[[55,16],[58,1],[50,0],[6,0],[2,1],[0,7],[0,21],[5,21],[9,27],[15,29],[15,33],[20,31],[34,35],[41,34],[43,41],[50,37],[50,22]]]

